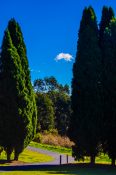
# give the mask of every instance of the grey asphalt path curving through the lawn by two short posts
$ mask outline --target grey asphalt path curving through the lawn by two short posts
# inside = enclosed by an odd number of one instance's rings
[[[54,158],[54,160],[51,162],[36,163],[36,165],[59,165],[60,164],[60,155],[61,155],[61,164],[67,164],[67,155],[44,150],[44,149],[40,149],[40,148],[34,148],[31,146],[28,146],[27,149],[52,156]],[[73,163],[73,162],[74,162],[74,158],[72,156],[68,156],[68,163]],[[34,165],[35,165],[35,163],[34,163]]]

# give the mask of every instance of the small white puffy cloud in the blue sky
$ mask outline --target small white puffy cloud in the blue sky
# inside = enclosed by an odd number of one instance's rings
[[[73,56],[70,55],[69,53],[59,53],[55,58],[56,61],[60,61],[60,60],[72,61],[72,59],[73,59]]]

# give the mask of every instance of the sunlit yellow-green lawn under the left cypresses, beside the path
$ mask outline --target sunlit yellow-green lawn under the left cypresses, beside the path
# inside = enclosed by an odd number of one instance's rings
[[[5,152],[2,152],[1,156],[0,156],[0,165],[9,165],[9,163],[1,163],[4,162],[6,160],[6,154]],[[11,156],[11,160],[13,160],[13,154]],[[21,162],[25,162],[25,163],[42,163],[42,162],[49,162],[54,160],[53,157],[45,155],[45,154],[41,154],[38,152],[34,152],[34,151],[30,151],[25,149],[19,156],[19,161]]]

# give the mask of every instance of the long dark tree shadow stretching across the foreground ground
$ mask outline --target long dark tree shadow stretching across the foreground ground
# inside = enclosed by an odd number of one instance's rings
[[[96,164],[0,166],[0,171],[45,171],[47,174],[116,175],[116,166]]]

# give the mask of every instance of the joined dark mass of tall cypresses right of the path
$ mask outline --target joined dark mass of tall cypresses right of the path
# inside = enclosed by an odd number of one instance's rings
[[[91,163],[103,151],[116,161],[116,19],[103,7],[99,27],[92,7],[85,8],[73,65],[71,124],[72,154]]]

